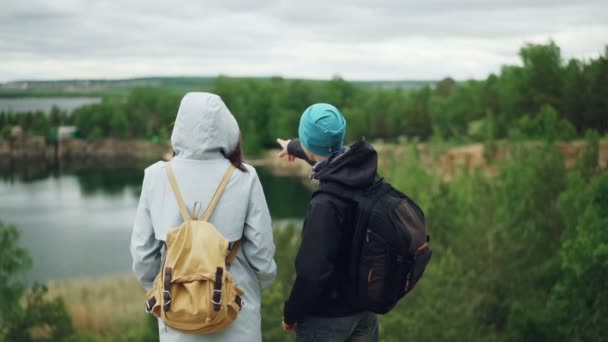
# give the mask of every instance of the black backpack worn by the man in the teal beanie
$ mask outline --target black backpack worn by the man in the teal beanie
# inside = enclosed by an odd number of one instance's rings
[[[355,202],[357,209],[347,294],[361,310],[384,314],[408,294],[431,259],[422,209],[379,178],[361,191],[323,184],[320,192]]]

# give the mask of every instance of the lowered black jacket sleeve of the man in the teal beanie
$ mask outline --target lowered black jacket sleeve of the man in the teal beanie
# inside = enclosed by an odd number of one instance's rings
[[[337,211],[330,203],[312,204],[302,227],[302,242],[296,256],[296,281],[285,302],[283,320],[301,321],[326,289],[334,273],[341,231]]]

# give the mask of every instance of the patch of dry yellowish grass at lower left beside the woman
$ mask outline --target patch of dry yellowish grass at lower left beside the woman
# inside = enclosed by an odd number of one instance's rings
[[[77,331],[116,336],[144,327],[144,290],[132,275],[48,283],[63,298]]]

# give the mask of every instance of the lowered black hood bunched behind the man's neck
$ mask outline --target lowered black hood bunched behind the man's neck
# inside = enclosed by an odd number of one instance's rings
[[[314,177],[348,188],[366,188],[374,184],[378,172],[378,154],[365,138],[343,153],[337,153],[314,167]]]

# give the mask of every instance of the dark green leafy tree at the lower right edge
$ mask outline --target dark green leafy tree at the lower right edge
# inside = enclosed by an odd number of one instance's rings
[[[559,250],[561,277],[548,304],[563,340],[592,341],[608,326],[608,173],[587,183],[573,175],[561,205],[571,222]]]

